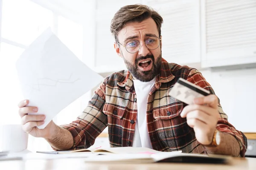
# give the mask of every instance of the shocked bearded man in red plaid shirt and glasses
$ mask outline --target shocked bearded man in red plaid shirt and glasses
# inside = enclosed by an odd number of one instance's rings
[[[149,147],[160,151],[244,156],[247,139],[227,121],[209,83],[194,68],[168,63],[161,56],[162,17],[148,6],[124,6],[111,22],[116,54],[128,71],[106,77],[83,113],[69,125],[28,115],[37,107],[19,103],[23,130],[45,138],[55,150],[90,147],[108,126],[111,147]],[[178,78],[210,91],[193,105],[169,96]]]

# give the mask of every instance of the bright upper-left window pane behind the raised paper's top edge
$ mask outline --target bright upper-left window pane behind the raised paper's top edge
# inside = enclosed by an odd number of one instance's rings
[[[29,45],[46,28],[53,26],[53,13],[29,0],[2,0],[1,36]],[[14,5],[15,4],[15,5]]]

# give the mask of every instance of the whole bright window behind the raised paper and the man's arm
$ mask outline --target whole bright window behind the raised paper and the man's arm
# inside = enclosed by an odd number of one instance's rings
[[[2,12],[2,14],[1,14]],[[0,124],[20,124],[17,104],[23,99],[17,79],[16,61],[20,54],[46,28],[51,27],[60,40],[82,59],[83,26],[30,0],[0,0]],[[71,103],[54,118],[58,125],[70,123],[84,109],[90,92]],[[51,147],[41,138],[29,136],[29,150]]]

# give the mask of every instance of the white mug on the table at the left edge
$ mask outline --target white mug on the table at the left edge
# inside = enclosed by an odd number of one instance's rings
[[[0,151],[20,152],[28,146],[29,134],[22,125],[0,125]]]

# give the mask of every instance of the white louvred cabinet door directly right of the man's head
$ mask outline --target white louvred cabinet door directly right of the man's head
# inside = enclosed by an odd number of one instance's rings
[[[162,17],[162,57],[180,65],[200,65],[200,0],[147,0]]]

